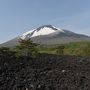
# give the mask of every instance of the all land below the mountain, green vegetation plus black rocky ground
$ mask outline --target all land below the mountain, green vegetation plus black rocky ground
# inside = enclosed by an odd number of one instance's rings
[[[90,42],[37,47],[30,40],[2,47],[0,90],[89,90],[89,48]]]

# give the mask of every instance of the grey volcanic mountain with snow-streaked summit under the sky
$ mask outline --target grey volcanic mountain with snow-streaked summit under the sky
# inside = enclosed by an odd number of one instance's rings
[[[52,44],[64,44],[69,42],[78,41],[90,41],[90,37],[82,34],[77,34],[68,30],[59,29],[52,25],[43,25],[34,30],[30,30],[10,41],[7,41],[1,46],[16,46],[19,44],[19,39],[31,39],[35,43],[42,45],[52,45]]]

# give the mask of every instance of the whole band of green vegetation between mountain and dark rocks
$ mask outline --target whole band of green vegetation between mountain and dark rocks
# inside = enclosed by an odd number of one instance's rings
[[[0,56],[36,57],[38,54],[90,56],[90,42],[74,42],[62,45],[41,46],[31,40],[20,40],[14,50],[7,47],[0,48]]]

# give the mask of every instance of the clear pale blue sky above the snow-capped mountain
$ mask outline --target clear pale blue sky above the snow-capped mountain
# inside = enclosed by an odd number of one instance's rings
[[[0,0],[0,43],[44,24],[90,35],[90,0]]]

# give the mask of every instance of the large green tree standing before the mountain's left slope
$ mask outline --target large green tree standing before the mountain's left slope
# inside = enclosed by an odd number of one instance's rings
[[[30,56],[35,57],[38,54],[37,44],[31,40],[20,40],[20,45],[16,46],[16,56]]]

